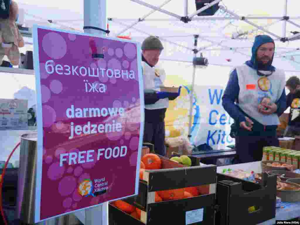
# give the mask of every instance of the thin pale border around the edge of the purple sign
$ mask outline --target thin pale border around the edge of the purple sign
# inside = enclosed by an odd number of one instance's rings
[[[143,145],[143,134],[144,134],[144,125],[145,125],[145,110],[144,110],[144,82],[143,82],[143,74],[142,74],[142,52],[141,52],[141,44],[137,41],[132,41],[129,39],[122,39],[120,38],[107,38],[102,36],[96,36],[91,35],[87,33],[80,33],[80,32],[74,32],[74,31],[68,31],[68,30],[61,30],[61,29],[55,29],[55,28],[49,28],[45,26],[38,26],[33,25],[32,29],[32,37],[33,37],[33,60],[34,60],[34,70],[35,70],[35,84],[36,84],[36,95],[37,95],[37,115],[42,115],[42,99],[41,99],[41,76],[40,76],[40,61],[39,61],[39,46],[38,46],[38,29],[46,29],[49,31],[56,31],[56,32],[64,32],[68,34],[74,34],[74,35],[83,35],[83,36],[90,36],[90,37],[96,37],[96,38],[105,38],[109,40],[115,40],[115,41],[122,41],[122,42],[128,42],[136,44],[137,46],[137,69],[138,69],[138,75],[139,75],[139,84],[140,84],[140,110],[141,110],[141,123],[140,123],[140,139],[139,139],[139,149],[138,149],[138,155],[137,155],[137,171],[136,171],[136,182],[135,182],[135,193],[134,195],[130,196],[124,196],[119,199],[128,198],[131,196],[135,196],[139,192],[139,181],[140,181],[140,161],[141,161],[141,152],[142,152],[142,145]],[[38,124],[38,142],[37,142],[37,164],[36,164],[36,180],[35,180],[35,215],[34,215],[34,223],[38,223],[44,220],[49,220],[58,216],[62,216],[65,214],[70,214],[76,211],[81,211],[87,208],[93,208],[98,205],[92,205],[90,207],[84,208],[84,209],[77,209],[68,213],[59,214],[53,217],[49,217],[47,219],[41,220],[41,182],[42,182],[42,165],[43,165],[43,119],[42,116],[37,116],[37,124]],[[37,168],[41,168],[38,170]],[[40,185],[37,185],[40,184]],[[115,201],[119,199],[113,199],[110,201]],[[104,203],[104,202],[103,202]]]

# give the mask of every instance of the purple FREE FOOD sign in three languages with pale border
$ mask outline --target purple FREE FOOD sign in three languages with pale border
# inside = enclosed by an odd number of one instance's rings
[[[144,123],[139,44],[36,26],[34,47],[35,222],[137,195]]]

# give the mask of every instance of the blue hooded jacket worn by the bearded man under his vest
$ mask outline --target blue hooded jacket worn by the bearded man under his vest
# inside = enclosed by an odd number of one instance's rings
[[[258,35],[256,36],[253,46],[252,46],[252,57],[251,60],[246,61],[245,64],[249,67],[256,69],[256,70],[271,70],[275,71],[276,68],[272,66],[273,58],[268,62],[267,65],[259,65],[259,63],[256,60],[256,53],[259,46],[266,43],[274,43],[274,40],[268,36],[268,35]],[[274,55],[273,55],[274,56]],[[240,124],[243,121],[246,121],[246,118],[244,116],[244,113],[241,112],[241,110],[238,108],[237,105],[235,105],[235,100],[238,100],[238,94],[240,92],[240,87],[238,85],[238,74],[236,72],[236,69],[234,69],[229,77],[229,81],[227,83],[226,89],[224,91],[224,95],[222,97],[222,105],[226,112],[229,114],[231,118],[237,122],[237,124]],[[278,99],[277,102],[275,102],[277,105],[277,115],[281,116],[281,114],[286,110],[286,94],[285,89],[283,89],[282,95]]]

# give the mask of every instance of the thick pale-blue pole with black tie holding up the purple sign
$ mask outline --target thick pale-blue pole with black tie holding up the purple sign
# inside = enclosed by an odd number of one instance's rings
[[[85,0],[83,1],[84,26],[96,27],[106,30],[107,6],[106,0]],[[103,31],[97,29],[84,29],[85,33],[103,37]],[[85,225],[108,225],[108,202],[100,206],[85,209]]]

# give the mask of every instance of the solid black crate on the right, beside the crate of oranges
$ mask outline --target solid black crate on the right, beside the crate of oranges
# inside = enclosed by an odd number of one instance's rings
[[[217,174],[216,224],[255,225],[275,217],[277,176],[263,173],[260,183]],[[249,207],[255,211],[249,212]]]

